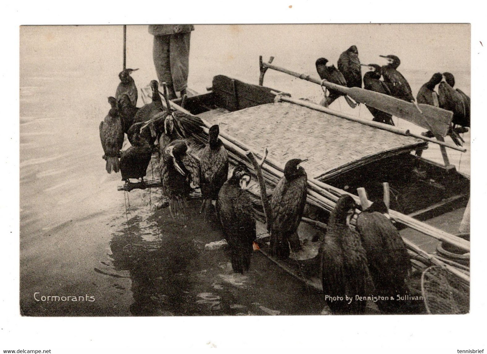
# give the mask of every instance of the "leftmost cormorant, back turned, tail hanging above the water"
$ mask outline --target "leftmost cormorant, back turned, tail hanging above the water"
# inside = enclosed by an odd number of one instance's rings
[[[107,116],[100,122],[100,141],[105,154],[102,156],[107,161],[106,169],[108,173],[118,172],[120,150],[123,146],[123,122],[116,108],[114,97],[108,97],[108,102],[112,106]]]

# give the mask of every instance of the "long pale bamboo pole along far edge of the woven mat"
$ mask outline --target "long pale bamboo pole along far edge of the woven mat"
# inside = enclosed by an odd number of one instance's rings
[[[274,91],[271,91],[271,93],[275,93],[276,95],[278,95],[278,93],[274,92]],[[363,125],[367,125],[369,127],[374,127],[374,128],[380,129],[380,130],[386,130],[386,131],[390,131],[392,133],[396,133],[396,134],[404,135],[404,136],[412,136],[414,138],[421,139],[424,141],[428,141],[430,143],[438,144],[440,146],[444,146],[446,148],[450,148],[453,150],[462,151],[462,152],[467,151],[467,149],[465,149],[465,148],[461,148],[461,147],[458,147],[455,145],[451,145],[449,143],[445,143],[445,141],[431,139],[431,138],[428,138],[428,137],[420,135],[420,134],[412,133],[409,129],[400,129],[400,128],[394,127],[392,125],[389,125],[389,124],[374,122],[373,120],[359,118],[359,117],[356,117],[356,116],[353,116],[350,114],[334,111],[334,110],[331,110],[329,108],[318,105],[317,103],[313,103],[313,102],[309,102],[309,101],[305,101],[305,100],[301,100],[301,99],[296,99],[296,98],[292,98],[292,97],[284,96],[284,95],[279,95],[279,100],[284,101],[284,102],[295,103],[295,104],[303,106],[303,107],[311,108],[312,110],[315,110],[315,111],[335,115],[337,117],[345,118],[345,119],[348,119],[348,120],[351,120],[351,121],[354,121],[354,122],[357,122],[357,123],[360,123]]]

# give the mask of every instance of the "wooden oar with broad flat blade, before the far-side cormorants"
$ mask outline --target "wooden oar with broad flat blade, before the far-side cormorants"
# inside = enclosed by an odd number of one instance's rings
[[[448,129],[450,128],[451,120],[453,119],[453,112],[446,111],[441,108],[426,104],[419,104],[415,106],[412,103],[388,96],[387,94],[360,89],[358,87],[348,88],[329,81],[319,80],[311,77],[310,75],[299,74],[265,62],[262,63],[262,66],[313,82],[318,85],[323,85],[328,89],[345,93],[357,102],[364,103],[367,106],[371,106],[380,111],[403,118],[422,128],[431,130],[435,135],[446,136]],[[417,107],[419,107],[421,112],[418,111]]]

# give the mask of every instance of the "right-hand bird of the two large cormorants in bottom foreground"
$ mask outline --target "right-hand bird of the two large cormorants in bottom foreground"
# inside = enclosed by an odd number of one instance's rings
[[[396,297],[409,294],[406,285],[411,269],[406,245],[392,222],[384,216],[387,207],[377,201],[357,217],[356,230],[367,255],[367,265],[374,281],[377,297],[393,300],[378,300],[377,306],[384,313],[407,313],[409,301]]]

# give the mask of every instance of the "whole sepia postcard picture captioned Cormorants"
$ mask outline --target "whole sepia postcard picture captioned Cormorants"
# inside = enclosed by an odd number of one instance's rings
[[[21,316],[469,312],[468,23],[19,31]]]

